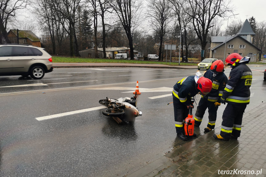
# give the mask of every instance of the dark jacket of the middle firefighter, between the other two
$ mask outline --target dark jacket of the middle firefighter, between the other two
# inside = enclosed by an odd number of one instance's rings
[[[208,95],[203,96],[204,99],[208,99],[208,101],[220,103],[220,98],[223,95],[223,90],[226,86],[227,77],[226,75],[221,72],[218,73],[215,77],[213,77],[213,73],[211,70],[207,70],[204,77],[209,78],[212,82],[212,89]]]

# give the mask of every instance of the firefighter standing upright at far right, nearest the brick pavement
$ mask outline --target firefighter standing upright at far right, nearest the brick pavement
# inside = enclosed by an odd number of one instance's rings
[[[240,136],[243,113],[250,99],[252,72],[246,65],[249,61],[249,57],[237,53],[230,54],[225,60],[232,69],[221,97],[221,103],[227,103],[223,111],[222,128],[219,135],[213,135],[215,139],[229,140]]]

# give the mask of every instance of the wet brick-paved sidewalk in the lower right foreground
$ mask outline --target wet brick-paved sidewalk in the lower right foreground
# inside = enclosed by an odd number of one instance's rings
[[[244,113],[238,140],[214,139],[212,135],[220,132],[219,127],[127,177],[266,176],[265,115],[266,103],[263,103]]]

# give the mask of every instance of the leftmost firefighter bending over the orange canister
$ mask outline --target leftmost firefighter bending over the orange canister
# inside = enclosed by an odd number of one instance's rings
[[[184,134],[183,122],[189,113],[189,107],[193,107],[191,97],[200,92],[207,95],[211,91],[212,82],[210,79],[202,76],[197,72],[195,76],[188,76],[178,81],[174,85],[172,92],[174,103],[174,120],[178,138],[186,141]]]

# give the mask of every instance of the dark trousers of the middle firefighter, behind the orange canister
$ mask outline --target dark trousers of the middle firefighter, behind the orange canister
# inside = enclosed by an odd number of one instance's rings
[[[209,123],[207,127],[214,129],[215,121],[217,117],[218,106],[214,105],[215,102],[208,101],[207,99],[201,98],[198,103],[197,111],[195,113],[195,124],[200,125],[203,119],[203,115],[208,108]]]

